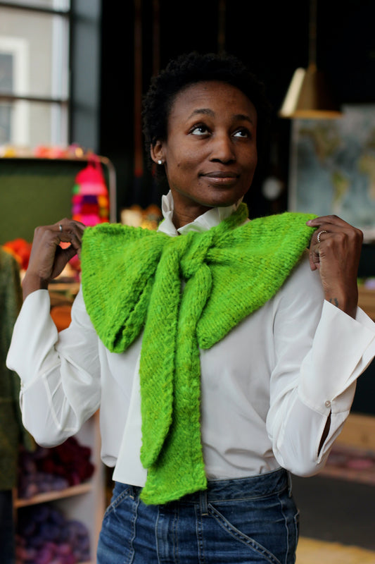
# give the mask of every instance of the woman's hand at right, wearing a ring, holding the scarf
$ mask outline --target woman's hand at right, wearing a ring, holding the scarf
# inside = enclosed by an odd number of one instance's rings
[[[307,225],[317,228],[310,243],[310,267],[319,270],[324,297],[355,318],[362,231],[333,215],[317,217]]]

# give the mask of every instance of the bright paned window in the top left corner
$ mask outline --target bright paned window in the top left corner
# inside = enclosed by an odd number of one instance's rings
[[[68,144],[69,0],[0,1],[0,145]]]

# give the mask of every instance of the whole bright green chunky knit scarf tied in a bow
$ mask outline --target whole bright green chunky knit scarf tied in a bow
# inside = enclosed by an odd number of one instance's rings
[[[144,331],[145,503],[207,486],[199,348],[212,347],[277,293],[314,231],[305,225],[309,214],[244,223],[247,213],[241,204],[205,233],[179,237],[108,223],[84,231],[82,291],[99,338],[122,353]]]

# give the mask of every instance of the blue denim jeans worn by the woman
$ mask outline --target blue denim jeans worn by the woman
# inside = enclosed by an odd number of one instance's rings
[[[116,483],[103,518],[97,564],[292,564],[298,510],[288,472],[214,480],[165,505]]]

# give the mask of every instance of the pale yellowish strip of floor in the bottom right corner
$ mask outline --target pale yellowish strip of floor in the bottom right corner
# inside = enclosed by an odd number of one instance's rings
[[[301,538],[296,564],[375,564],[375,552],[357,546]]]

